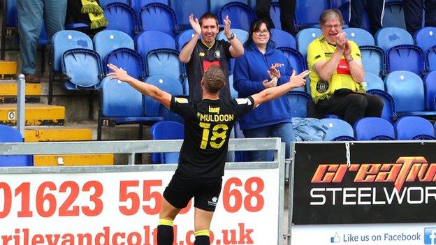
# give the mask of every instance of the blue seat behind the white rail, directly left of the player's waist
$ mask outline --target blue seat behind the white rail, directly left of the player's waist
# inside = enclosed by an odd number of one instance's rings
[[[182,140],[183,124],[177,121],[159,121],[150,128],[152,140]],[[161,152],[152,154],[152,163],[179,163],[179,152]]]

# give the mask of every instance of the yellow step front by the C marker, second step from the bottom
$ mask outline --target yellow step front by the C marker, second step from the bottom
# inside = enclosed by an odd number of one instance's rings
[[[65,121],[65,107],[27,103],[25,107],[26,126],[61,126]],[[0,104],[0,124],[17,124],[17,104]]]

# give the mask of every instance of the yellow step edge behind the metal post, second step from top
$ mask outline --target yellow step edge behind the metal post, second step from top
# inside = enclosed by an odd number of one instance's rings
[[[40,102],[41,84],[26,84],[26,103]],[[0,103],[17,102],[17,82],[15,80],[0,81]]]

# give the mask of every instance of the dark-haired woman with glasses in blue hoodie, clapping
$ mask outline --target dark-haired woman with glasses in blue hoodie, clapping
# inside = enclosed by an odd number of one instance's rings
[[[284,54],[275,48],[266,20],[252,23],[244,46],[244,55],[236,59],[233,72],[233,87],[238,91],[239,98],[292,82],[295,71]],[[289,102],[282,96],[259,105],[241,117],[240,128],[245,138],[282,138],[282,142],[286,143],[286,158],[289,158],[290,143],[295,140],[290,112]],[[272,161],[273,154],[249,151],[249,158],[249,161]]]

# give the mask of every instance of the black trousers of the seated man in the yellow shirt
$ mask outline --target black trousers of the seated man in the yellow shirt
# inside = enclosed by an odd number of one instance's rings
[[[363,117],[380,117],[383,111],[383,101],[372,94],[351,93],[345,96],[333,95],[317,103],[317,111],[321,114],[337,114],[351,126]]]

